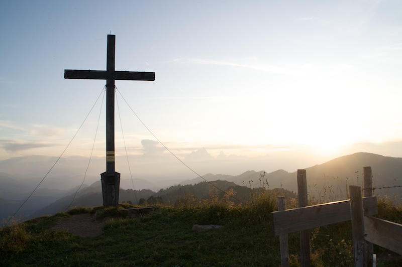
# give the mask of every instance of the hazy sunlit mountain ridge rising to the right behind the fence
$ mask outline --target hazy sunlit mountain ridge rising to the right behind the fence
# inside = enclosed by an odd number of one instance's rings
[[[309,186],[310,197],[319,197],[322,191],[328,190],[327,194],[332,194],[332,198],[338,200],[346,199],[349,185],[363,186],[363,167],[371,167],[372,181],[376,189],[374,194],[381,196],[388,195],[390,198],[402,197],[402,158],[384,157],[377,154],[359,152],[343,157],[339,157],[326,163],[306,168],[307,183]],[[216,180],[225,176],[227,181],[237,185],[248,187],[258,187],[261,175],[264,171],[247,171],[239,176],[212,175],[204,176],[205,179]],[[207,180],[208,180],[207,179]],[[183,184],[193,184],[204,179],[197,177],[186,180]],[[269,185],[269,188],[284,188],[297,192],[297,171],[289,173],[284,170],[277,170],[265,173],[262,182]],[[331,192],[329,192],[331,191]]]

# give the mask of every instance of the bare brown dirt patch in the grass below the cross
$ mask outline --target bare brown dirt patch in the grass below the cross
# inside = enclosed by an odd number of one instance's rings
[[[52,229],[67,231],[82,237],[95,237],[102,233],[105,221],[97,221],[92,214],[77,214],[66,219],[60,219]]]

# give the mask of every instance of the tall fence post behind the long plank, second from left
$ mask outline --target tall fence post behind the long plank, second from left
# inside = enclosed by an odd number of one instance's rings
[[[306,207],[308,203],[307,197],[307,176],[306,170],[297,170],[297,193],[298,207]],[[303,267],[310,266],[310,231],[300,231],[300,264]]]

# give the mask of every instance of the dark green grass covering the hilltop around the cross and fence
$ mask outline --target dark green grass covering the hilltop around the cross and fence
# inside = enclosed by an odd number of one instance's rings
[[[291,201],[289,201],[291,202]],[[76,208],[0,229],[1,266],[278,266],[279,238],[273,236],[270,212],[276,197],[261,192],[245,206],[228,199],[184,201],[177,206],[157,206],[149,214],[127,217],[117,208]],[[379,214],[402,220],[402,210],[379,201]],[[50,228],[60,218],[92,213],[109,220],[103,233],[83,238]],[[389,218],[385,218],[389,219]],[[401,223],[400,221],[396,221]],[[224,227],[198,233],[194,224]],[[350,222],[311,230],[313,266],[352,266]],[[299,265],[298,234],[289,234],[291,266]],[[375,247],[375,252],[384,249]],[[383,266],[402,261],[381,259]]]

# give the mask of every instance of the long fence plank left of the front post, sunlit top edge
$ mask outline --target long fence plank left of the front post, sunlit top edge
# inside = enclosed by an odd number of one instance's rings
[[[363,211],[364,216],[372,216],[378,213],[375,196],[363,198]],[[271,214],[274,235],[298,232],[350,220],[350,200],[274,211]]]

